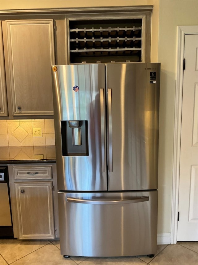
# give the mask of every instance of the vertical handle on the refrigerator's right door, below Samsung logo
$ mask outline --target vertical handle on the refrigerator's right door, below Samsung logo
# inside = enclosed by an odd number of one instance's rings
[[[108,88],[108,133],[109,133],[109,172],[113,172],[112,161],[112,100],[111,100],[111,88]]]

